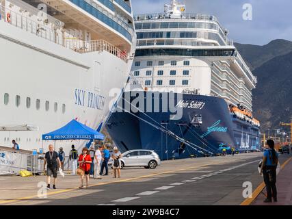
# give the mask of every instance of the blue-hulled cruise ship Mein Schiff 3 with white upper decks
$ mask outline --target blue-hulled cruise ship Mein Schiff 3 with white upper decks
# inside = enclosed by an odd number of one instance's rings
[[[135,16],[135,29],[129,86],[106,125],[122,151],[170,159],[258,149],[256,77],[215,16],[171,1],[161,14]]]

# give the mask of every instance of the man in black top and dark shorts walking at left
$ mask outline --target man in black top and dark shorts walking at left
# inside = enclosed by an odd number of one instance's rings
[[[56,151],[54,151],[54,146],[52,144],[49,145],[49,151],[44,155],[44,170],[47,164],[47,190],[51,190],[51,176],[53,175],[53,189],[56,189],[57,183],[57,168],[59,166],[59,170],[61,169],[61,162],[59,160],[59,155]],[[60,170],[61,172],[61,170]]]

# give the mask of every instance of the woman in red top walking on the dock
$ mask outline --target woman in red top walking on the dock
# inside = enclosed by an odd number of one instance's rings
[[[86,179],[86,186],[85,188],[88,188],[88,181],[89,181],[89,172],[90,172],[90,164],[92,163],[92,159],[89,155],[89,151],[87,148],[82,149],[82,154],[79,156],[78,159],[79,162],[79,168],[84,170],[84,175]],[[83,179],[84,175],[80,176],[81,186],[79,186],[79,189],[83,189]]]

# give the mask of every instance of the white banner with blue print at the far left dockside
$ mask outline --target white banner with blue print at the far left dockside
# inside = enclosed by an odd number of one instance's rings
[[[17,173],[27,169],[27,155],[0,151],[0,175]]]

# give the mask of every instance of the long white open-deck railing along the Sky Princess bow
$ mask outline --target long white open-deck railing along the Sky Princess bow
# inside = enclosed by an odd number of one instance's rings
[[[92,41],[81,41],[81,40],[68,40],[63,39],[64,31],[62,29],[53,28],[51,29],[49,25],[42,25],[41,23],[37,23],[32,19],[27,18],[27,16],[23,16],[23,14],[19,14],[10,10],[9,8],[5,8],[2,5],[0,6],[0,22],[5,22],[14,27],[18,27],[23,29],[35,36],[40,38],[44,38],[55,44],[59,44],[68,49],[72,49],[78,53],[90,53],[94,51],[108,51],[109,53],[116,55],[124,62],[127,62],[128,54],[125,51],[121,51],[118,47],[110,44],[105,40],[92,40]],[[9,15],[9,16],[8,16]],[[44,23],[44,21],[43,21]],[[55,25],[55,24],[54,24]]]

